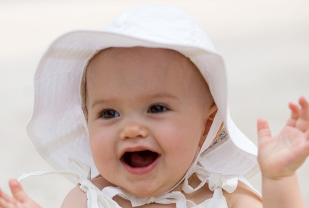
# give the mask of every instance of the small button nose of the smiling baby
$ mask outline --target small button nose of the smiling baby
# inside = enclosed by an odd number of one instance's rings
[[[121,140],[126,140],[127,138],[136,138],[136,137],[147,137],[147,130],[137,123],[127,124],[122,131],[120,132]]]

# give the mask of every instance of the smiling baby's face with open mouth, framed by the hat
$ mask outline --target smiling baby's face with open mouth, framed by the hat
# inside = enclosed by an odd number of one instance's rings
[[[194,64],[168,49],[110,48],[86,74],[90,148],[100,174],[141,197],[186,173],[216,111]]]

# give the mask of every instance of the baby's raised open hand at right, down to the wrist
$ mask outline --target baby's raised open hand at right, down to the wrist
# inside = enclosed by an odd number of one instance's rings
[[[291,118],[279,135],[271,136],[268,122],[258,119],[258,161],[263,177],[279,179],[293,175],[309,155],[309,105],[304,97],[289,103]]]

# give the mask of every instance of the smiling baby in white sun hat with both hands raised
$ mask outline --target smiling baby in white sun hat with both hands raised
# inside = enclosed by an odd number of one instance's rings
[[[149,18],[151,12],[157,16]],[[46,102],[46,106],[64,109],[65,105],[67,110],[61,112],[63,115],[75,110],[72,104],[74,99],[80,101],[78,109],[82,109],[82,118],[75,116],[80,114],[74,114],[74,111],[70,114],[72,118],[66,119],[64,123],[71,120],[74,124],[77,122],[75,120],[81,119],[80,126],[83,132],[87,132],[85,135],[88,141],[77,141],[80,149],[76,147],[76,151],[68,155],[78,158],[78,152],[87,149],[82,146],[86,144],[91,149],[90,157],[95,165],[94,167],[91,161],[88,162],[86,156],[79,159],[88,165],[69,158],[69,168],[72,171],[57,172],[74,176],[79,184],[69,192],[62,207],[151,208],[175,207],[174,203],[177,208],[305,207],[295,175],[295,170],[309,155],[309,105],[305,98],[299,98],[300,108],[296,104],[289,104],[291,118],[279,135],[271,136],[267,121],[263,118],[258,120],[258,161],[263,176],[262,201],[260,194],[245,179],[256,173],[256,161],[252,156],[254,150],[251,150],[250,143],[229,120],[228,112],[224,112],[222,107],[227,105],[220,87],[223,85],[224,89],[225,83],[218,81],[224,80],[224,74],[220,71],[221,62],[216,59],[217,56],[213,56],[213,46],[208,40],[202,42],[196,38],[191,40],[200,45],[200,48],[195,47],[193,42],[191,45],[186,42],[182,47],[179,47],[180,44],[171,44],[173,42],[169,44],[168,38],[164,39],[168,30],[159,31],[161,36],[155,34],[158,30],[150,33],[150,36],[154,37],[153,42],[147,42],[142,35],[147,31],[145,28],[148,25],[156,27],[153,23],[161,23],[163,29],[165,24],[168,25],[160,22],[161,16],[158,13],[164,14],[163,19],[171,22],[173,17],[187,18],[183,11],[177,8],[138,7],[124,13],[133,25],[125,25],[127,20],[124,16],[119,18],[123,24],[115,24],[121,25],[119,27],[122,29],[127,27],[127,31],[133,31],[130,34],[134,38],[127,39],[116,34],[117,27],[114,34],[110,29],[105,33],[105,38],[101,38],[105,41],[110,35],[109,41],[112,42],[113,38],[118,38],[114,43],[108,43],[109,47],[100,45],[100,34],[95,32],[90,34],[90,39],[81,32],[83,34],[79,34],[75,39],[75,48],[70,50],[63,50],[59,45],[54,47],[55,44],[67,44],[69,41],[65,41],[65,38],[69,35],[72,38],[70,40],[74,40],[77,34],[71,33],[58,39],[42,58],[36,75],[42,91],[42,86],[50,88],[53,82],[57,87],[60,86],[59,88],[64,85],[61,88],[63,90],[77,91],[76,95],[67,94],[72,98],[63,96],[63,100],[55,97],[58,93],[48,94],[48,99],[54,101]],[[169,17],[170,14],[174,16]],[[141,17],[148,25],[137,24]],[[185,20],[192,21],[190,18]],[[181,26],[186,21],[182,22]],[[135,23],[142,29],[137,30]],[[176,28],[172,29],[175,40],[171,41],[176,41],[177,38],[190,40],[186,35],[192,37],[192,33],[186,34],[187,31],[177,30],[177,22],[172,22],[171,25]],[[188,24],[185,27],[190,29],[191,26],[192,24]],[[159,27],[162,25],[159,24]],[[132,35],[135,33],[135,36]],[[140,42],[136,41],[138,38]],[[81,42],[96,47],[87,51],[79,45]],[[209,45],[203,45],[206,43]],[[59,48],[63,51],[58,50]],[[208,50],[208,56],[205,56],[208,59],[202,56],[205,48]],[[76,77],[59,71],[56,79],[53,77],[56,71],[50,71],[49,74],[46,69],[43,71],[44,67],[52,66],[57,70],[59,65],[53,59],[58,58],[59,61],[67,60],[67,65],[63,64],[63,68],[70,72],[68,65],[72,60],[83,57],[82,52],[79,52],[79,55],[73,54],[74,50],[84,50],[84,54],[87,54],[86,61],[72,64],[73,70],[78,67],[82,69]],[[50,60],[54,62],[48,62]],[[45,80],[44,76],[50,80]],[[75,83],[74,86],[80,85],[80,88],[76,90],[72,83]],[[41,100],[40,103],[43,103]],[[68,100],[71,103],[67,103]],[[57,108],[57,105],[60,107]],[[44,103],[35,106],[40,107],[41,111],[44,110]],[[50,111],[59,114],[57,111]],[[34,113],[33,116],[37,115]],[[43,117],[48,119],[48,116]],[[39,120],[39,116],[36,118]],[[49,121],[45,122],[50,124]],[[64,124],[54,124],[59,131],[50,137],[65,139],[68,131],[64,130]],[[72,137],[83,135],[79,131],[81,128],[73,124]],[[28,125],[33,127],[39,124],[30,122]],[[64,133],[61,134],[61,131]],[[28,132],[30,135],[34,134],[29,130]],[[39,137],[38,132],[35,132],[36,137]],[[45,140],[49,140],[49,137]],[[242,143],[237,144],[237,140],[242,140]],[[34,142],[35,145],[36,143],[38,142]],[[49,149],[45,148],[44,151],[38,146],[36,148],[41,154],[52,152],[55,147],[60,149],[60,146],[54,143],[49,142],[46,146]],[[69,139],[67,143],[70,143]],[[245,148],[243,144],[246,144],[246,151],[242,150]],[[235,154],[229,155],[226,150]],[[252,154],[246,155],[247,153]],[[230,164],[226,161],[220,164],[223,160],[220,157],[224,157]],[[60,161],[59,158],[57,160]],[[219,158],[218,163],[213,164],[210,158]],[[56,169],[63,169],[55,165],[55,162],[50,163],[54,164]],[[36,175],[44,174],[47,173]],[[26,177],[28,176],[23,176],[22,179]],[[12,179],[9,184],[13,197],[0,191],[0,207],[40,207],[26,195],[18,181]]]

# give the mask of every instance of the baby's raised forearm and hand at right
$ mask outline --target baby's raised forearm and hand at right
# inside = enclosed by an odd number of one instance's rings
[[[295,171],[309,155],[309,105],[290,103],[291,118],[277,136],[265,119],[258,120],[259,155],[264,208],[305,208]]]

